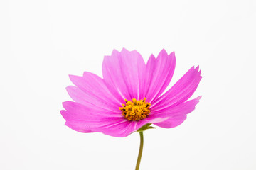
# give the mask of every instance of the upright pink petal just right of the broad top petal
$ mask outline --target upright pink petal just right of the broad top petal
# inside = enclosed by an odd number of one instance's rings
[[[146,64],[146,93],[147,101],[151,103],[154,98],[158,98],[169,85],[174,74],[176,64],[175,53],[167,54],[166,50],[161,50],[157,59],[153,55]]]

